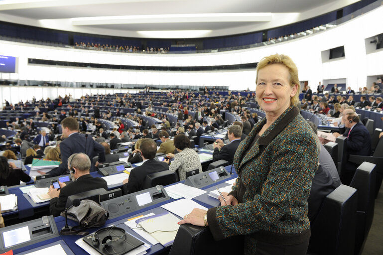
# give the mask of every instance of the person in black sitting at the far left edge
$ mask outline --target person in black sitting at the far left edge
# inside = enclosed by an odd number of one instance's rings
[[[23,182],[30,181],[30,176],[21,169],[7,161],[6,157],[0,156],[0,185],[13,186]]]

